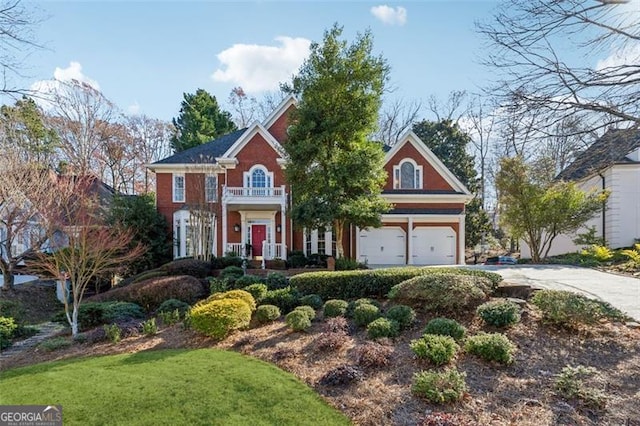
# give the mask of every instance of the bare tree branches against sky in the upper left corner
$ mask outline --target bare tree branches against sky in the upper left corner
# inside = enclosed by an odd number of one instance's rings
[[[21,0],[0,0],[0,93],[22,95],[29,92],[16,86],[13,79],[23,77],[26,58],[41,47],[34,36],[34,27],[39,22],[33,10]]]

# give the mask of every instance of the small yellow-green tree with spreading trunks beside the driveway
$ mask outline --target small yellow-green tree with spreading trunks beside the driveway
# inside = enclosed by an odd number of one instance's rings
[[[500,221],[531,249],[531,260],[546,259],[559,234],[578,230],[601,211],[606,192],[585,193],[573,182],[539,180],[522,157],[503,158],[496,176]]]

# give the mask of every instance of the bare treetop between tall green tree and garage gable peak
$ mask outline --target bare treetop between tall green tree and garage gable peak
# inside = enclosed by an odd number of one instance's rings
[[[384,144],[393,146],[400,136],[418,121],[422,109],[419,101],[395,100],[380,113],[378,132],[375,138]]]

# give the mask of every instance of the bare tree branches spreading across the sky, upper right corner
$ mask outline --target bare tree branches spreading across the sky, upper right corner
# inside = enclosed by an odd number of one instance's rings
[[[584,112],[594,117],[585,132],[640,124],[640,10],[621,3],[503,1],[490,22],[477,24],[500,104],[540,114],[531,123],[540,133]]]

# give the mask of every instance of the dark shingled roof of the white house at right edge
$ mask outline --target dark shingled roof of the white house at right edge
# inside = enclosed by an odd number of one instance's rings
[[[637,163],[627,158],[627,155],[638,148],[640,130],[609,130],[561,171],[556,179],[581,180],[614,164]]]

